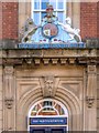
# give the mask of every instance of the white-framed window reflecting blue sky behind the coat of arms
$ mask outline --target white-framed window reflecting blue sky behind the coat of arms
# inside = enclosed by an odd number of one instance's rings
[[[45,9],[47,4],[54,7],[54,14],[58,17],[61,22],[66,18],[66,0],[33,0],[32,2],[32,18],[35,24],[40,24],[41,20],[46,14]]]

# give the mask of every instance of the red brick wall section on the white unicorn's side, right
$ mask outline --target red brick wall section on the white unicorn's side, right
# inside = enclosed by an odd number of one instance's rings
[[[80,3],[81,38],[97,38],[97,3]]]

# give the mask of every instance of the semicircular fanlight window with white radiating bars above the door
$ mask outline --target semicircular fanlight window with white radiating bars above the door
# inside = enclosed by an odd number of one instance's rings
[[[48,115],[67,115],[67,110],[64,110],[61,103],[51,99],[45,99],[31,109],[30,116],[46,115],[46,112],[50,112]]]

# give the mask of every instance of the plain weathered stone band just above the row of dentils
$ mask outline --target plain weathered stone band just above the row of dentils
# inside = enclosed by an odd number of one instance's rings
[[[96,49],[36,49],[36,50],[1,50],[0,58],[72,58],[72,57],[82,57],[82,58],[96,58],[97,50]]]

